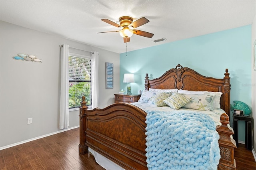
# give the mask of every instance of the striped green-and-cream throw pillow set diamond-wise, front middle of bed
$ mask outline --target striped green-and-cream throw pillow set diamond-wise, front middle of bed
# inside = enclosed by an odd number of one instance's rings
[[[186,98],[180,93],[173,93],[170,97],[164,100],[164,103],[166,103],[168,106],[175,110],[180,109],[188,102],[190,102],[190,99]]]

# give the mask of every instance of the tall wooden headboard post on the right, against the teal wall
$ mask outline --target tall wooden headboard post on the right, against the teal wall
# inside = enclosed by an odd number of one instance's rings
[[[224,75],[225,75],[225,77],[224,77],[223,99],[225,99],[225,101],[224,101],[223,110],[230,117],[230,87],[231,87],[231,85],[230,85],[230,77],[229,77],[228,69],[226,69],[226,73],[224,73]]]

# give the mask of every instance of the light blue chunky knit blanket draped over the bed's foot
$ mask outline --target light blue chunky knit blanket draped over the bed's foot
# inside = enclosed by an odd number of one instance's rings
[[[149,170],[217,170],[219,134],[214,121],[192,111],[147,111]]]

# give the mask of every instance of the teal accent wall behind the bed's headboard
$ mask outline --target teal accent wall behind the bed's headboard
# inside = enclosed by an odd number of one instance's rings
[[[132,93],[138,93],[139,89],[144,89],[146,73],[154,79],[178,64],[215,78],[223,78],[228,68],[231,77],[230,103],[243,101],[251,109],[251,46],[251,25],[248,25],[130,51],[127,57],[126,53],[121,53],[120,88],[126,91],[127,84],[122,82],[124,73],[134,73],[135,83],[130,85]],[[232,120],[231,113],[231,126]],[[239,121],[238,126],[239,140],[245,141],[244,122]]]

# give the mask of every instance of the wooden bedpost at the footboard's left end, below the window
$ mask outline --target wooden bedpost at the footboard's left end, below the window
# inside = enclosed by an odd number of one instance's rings
[[[88,152],[88,146],[85,145],[86,142],[86,134],[85,134],[85,128],[86,128],[86,119],[85,119],[85,110],[88,108],[86,106],[86,101],[85,101],[85,97],[82,97],[82,101],[80,102],[81,106],[79,107],[80,109],[80,114],[79,114],[79,118],[80,118],[80,144],[79,144],[79,153],[80,154],[85,154],[86,152]]]

